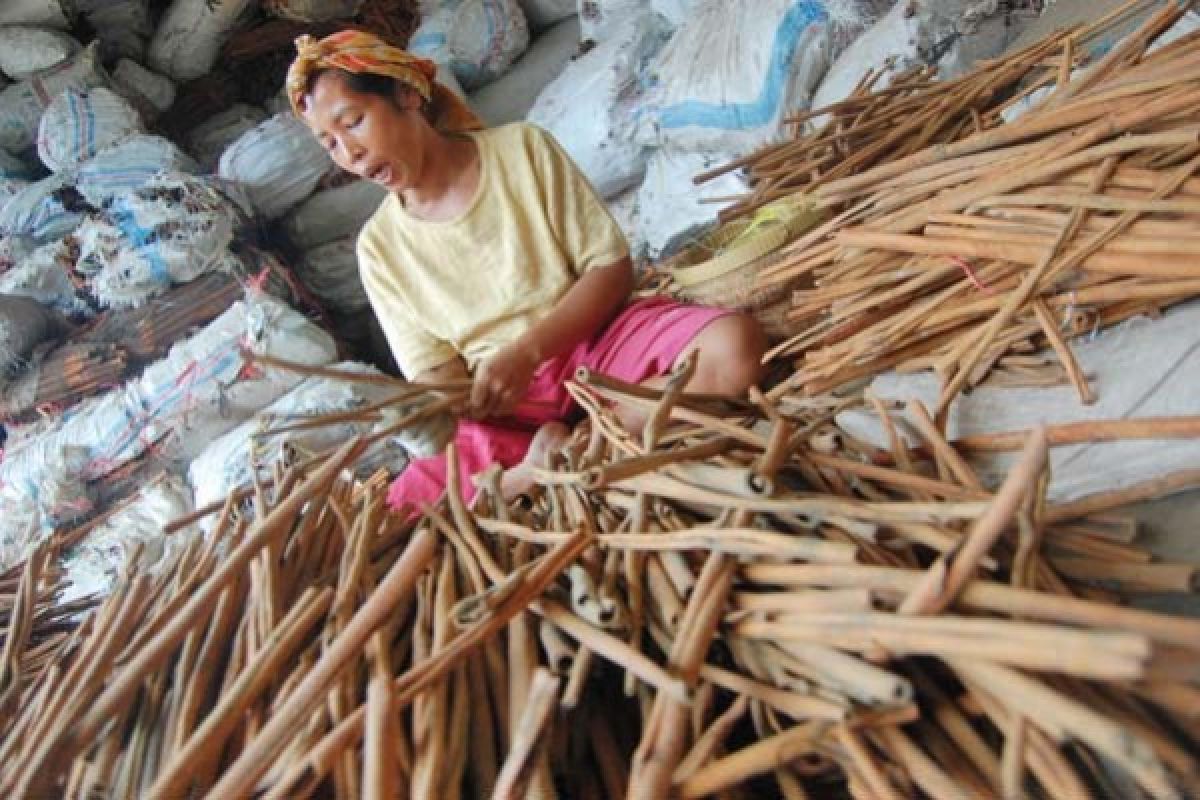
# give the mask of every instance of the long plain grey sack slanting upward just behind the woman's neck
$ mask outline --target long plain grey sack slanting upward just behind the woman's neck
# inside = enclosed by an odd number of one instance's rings
[[[508,74],[470,96],[470,107],[487,125],[523,120],[541,90],[580,52],[580,18],[570,17],[534,40]]]

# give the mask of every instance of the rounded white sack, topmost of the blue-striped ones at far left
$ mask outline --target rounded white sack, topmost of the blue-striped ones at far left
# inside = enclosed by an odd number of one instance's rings
[[[61,173],[142,130],[142,115],[115,91],[67,89],[42,114],[37,155],[50,172]]]

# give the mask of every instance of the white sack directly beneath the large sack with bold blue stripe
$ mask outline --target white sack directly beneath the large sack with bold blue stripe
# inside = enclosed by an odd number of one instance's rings
[[[638,235],[647,255],[658,258],[679,240],[696,235],[716,221],[724,207],[702,203],[707,197],[745,194],[749,187],[734,170],[697,186],[692,178],[733,160],[724,152],[684,152],[673,148],[656,151],[637,191]]]

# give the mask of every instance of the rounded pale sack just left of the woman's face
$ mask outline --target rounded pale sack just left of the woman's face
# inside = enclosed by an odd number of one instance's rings
[[[312,194],[334,168],[329,152],[294,114],[276,114],[241,134],[217,164],[245,190],[259,217],[278,219]]]

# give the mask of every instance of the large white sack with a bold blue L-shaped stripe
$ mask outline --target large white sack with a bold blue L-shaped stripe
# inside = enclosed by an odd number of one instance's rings
[[[646,144],[749,152],[808,108],[829,66],[829,13],[820,0],[704,0],[649,70],[638,118]]]

